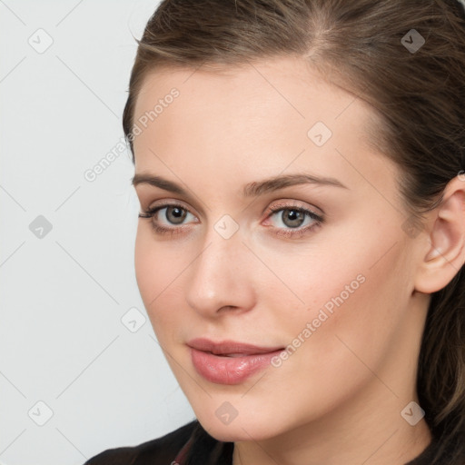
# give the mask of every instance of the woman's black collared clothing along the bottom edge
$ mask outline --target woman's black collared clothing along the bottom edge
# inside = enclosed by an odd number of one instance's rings
[[[430,465],[438,444],[433,440],[414,460],[405,465]],[[104,450],[84,465],[232,465],[233,442],[215,440],[198,420],[165,436],[133,447]],[[449,465],[446,460],[444,465]]]

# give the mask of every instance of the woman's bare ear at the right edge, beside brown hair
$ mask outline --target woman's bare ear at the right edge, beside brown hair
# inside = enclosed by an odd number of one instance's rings
[[[432,293],[447,286],[465,262],[463,175],[459,174],[447,184],[442,202],[429,214],[425,231],[428,233],[427,252],[417,269],[415,290]]]

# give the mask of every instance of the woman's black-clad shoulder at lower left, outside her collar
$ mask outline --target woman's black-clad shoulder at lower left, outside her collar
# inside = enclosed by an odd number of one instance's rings
[[[198,420],[193,420],[161,438],[148,440],[137,446],[104,450],[87,460],[84,465],[170,465],[197,425]]]

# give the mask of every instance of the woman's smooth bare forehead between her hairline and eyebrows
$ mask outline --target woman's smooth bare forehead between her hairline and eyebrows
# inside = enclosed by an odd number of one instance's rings
[[[166,67],[148,74],[134,122],[143,117],[146,127],[134,139],[136,172],[168,173],[170,166],[187,178],[215,166],[214,173],[243,179],[247,166],[252,179],[292,163],[351,183],[361,176],[351,163],[374,182],[389,163],[379,154],[366,159],[373,152],[366,143],[371,106],[292,57],[218,72]]]

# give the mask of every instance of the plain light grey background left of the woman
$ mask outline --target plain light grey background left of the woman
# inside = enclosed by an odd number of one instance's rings
[[[2,465],[78,465],[194,418],[135,282],[139,203],[118,145],[157,5],[0,0]]]

